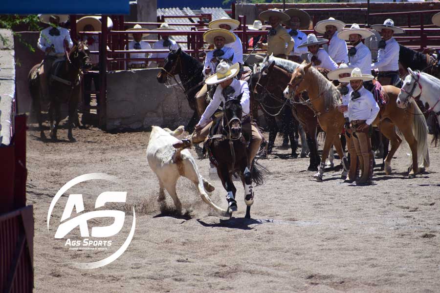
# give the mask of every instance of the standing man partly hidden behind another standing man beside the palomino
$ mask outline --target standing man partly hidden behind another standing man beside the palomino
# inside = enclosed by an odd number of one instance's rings
[[[352,73],[352,70],[353,68],[349,67],[347,64],[341,63],[339,65],[339,68],[330,71],[327,74],[327,77],[330,81],[338,80],[344,77],[349,77],[350,74]],[[357,154],[352,141],[352,134],[351,134],[352,130],[350,129],[350,119],[348,116],[350,92],[352,92],[353,89],[350,83],[340,83],[337,88],[341,93],[341,102],[342,102],[342,105],[338,106],[338,111],[344,113],[345,140],[347,142],[347,149],[350,154],[350,170],[348,173],[348,177],[344,182],[352,183],[356,179],[356,173],[357,173]]]

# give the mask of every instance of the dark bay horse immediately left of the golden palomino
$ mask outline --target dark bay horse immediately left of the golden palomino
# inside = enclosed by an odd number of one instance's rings
[[[306,132],[307,144],[310,149],[308,170],[316,171],[321,161],[318,154],[318,142],[316,141],[318,121],[307,105],[298,103],[298,97],[296,97],[295,103],[290,103],[283,95],[283,91],[291,78],[287,70],[293,71],[299,64],[281,58],[272,57],[268,60],[271,63],[264,61],[260,65],[262,66],[260,78],[254,87],[255,99],[263,106],[271,103],[271,105],[278,108],[287,106],[291,109],[293,116],[301,123]],[[305,144],[305,142],[302,142],[302,144]]]

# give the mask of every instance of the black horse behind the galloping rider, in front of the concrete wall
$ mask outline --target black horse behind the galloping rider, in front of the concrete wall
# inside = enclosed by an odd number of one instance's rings
[[[203,86],[203,65],[191,55],[188,55],[181,48],[172,50],[165,58],[163,68],[157,74],[157,81],[161,84],[173,82],[182,88],[186,95],[190,108],[194,111],[191,120],[188,122],[186,128],[188,131],[194,130],[194,126],[198,123],[200,118],[197,112],[196,94]],[[176,75],[179,76],[180,83],[176,81]]]

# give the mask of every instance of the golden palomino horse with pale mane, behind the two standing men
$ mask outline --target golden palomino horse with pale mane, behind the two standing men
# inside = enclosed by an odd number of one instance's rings
[[[373,124],[380,127],[381,132],[391,141],[391,150],[385,160],[385,172],[387,174],[391,173],[391,159],[402,142],[402,139],[394,130],[394,126],[397,126],[411,148],[412,171],[410,171],[410,167],[408,172],[410,176],[415,176],[418,173],[419,157],[423,157],[423,167],[429,166],[426,121],[415,102],[411,103],[406,110],[397,107],[396,100],[400,92],[397,87],[385,85],[382,88],[385,95],[389,97],[389,101],[381,108]],[[344,115],[337,110],[340,93],[322,74],[311,67],[311,63],[300,65],[295,70],[284,93],[286,97],[290,98],[292,93],[299,93],[304,90],[308,91],[310,103],[318,115],[319,124],[327,133],[321,161],[323,170],[331,143],[335,143],[336,150],[340,146],[337,146],[339,139],[335,139],[344,125]],[[420,152],[419,156],[418,150]]]

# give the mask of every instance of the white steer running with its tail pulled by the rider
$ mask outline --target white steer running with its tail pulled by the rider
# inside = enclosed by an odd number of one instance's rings
[[[151,131],[147,147],[147,160],[159,179],[157,201],[161,202],[165,199],[163,190],[165,188],[173,198],[176,209],[181,211],[182,204],[176,194],[176,183],[177,179],[183,176],[194,182],[205,203],[221,215],[227,216],[226,210],[216,206],[205,191],[205,188],[208,191],[213,191],[214,187],[200,175],[196,161],[189,150],[182,148],[183,142],[178,138],[183,130],[183,126],[179,126],[175,131],[153,126]]]

